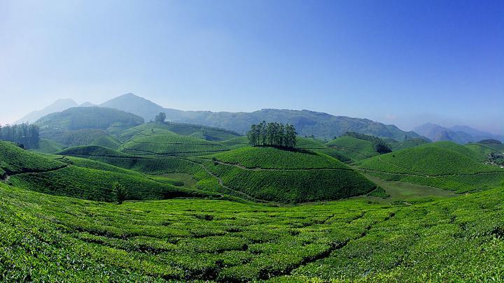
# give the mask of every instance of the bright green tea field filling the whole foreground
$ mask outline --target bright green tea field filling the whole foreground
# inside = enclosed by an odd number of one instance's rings
[[[0,183],[1,281],[503,280],[504,189],[412,206],[123,205]]]

